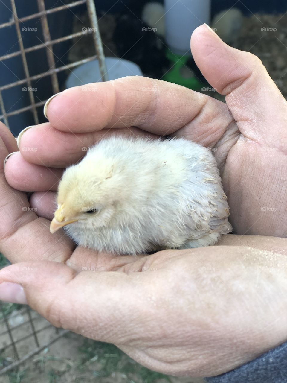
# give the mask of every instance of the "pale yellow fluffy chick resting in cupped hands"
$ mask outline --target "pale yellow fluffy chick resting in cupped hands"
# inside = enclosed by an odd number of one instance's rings
[[[212,153],[185,139],[111,137],[59,184],[52,233],[116,254],[214,245],[232,230]]]

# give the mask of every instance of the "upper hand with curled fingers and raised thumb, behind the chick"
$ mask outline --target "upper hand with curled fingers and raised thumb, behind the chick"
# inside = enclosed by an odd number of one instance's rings
[[[285,99],[257,57],[227,46],[205,26],[193,33],[191,49],[227,105],[144,77],[65,90],[47,108],[49,123],[21,136],[20,153],[6,165],[10,185],[40,192],[31,204],[51,218],[54,195],[46,191],[57,189],[61,168],[78,161],[83,147],[115,133],[184,136],[213,148],[234,232],[285,237]]]

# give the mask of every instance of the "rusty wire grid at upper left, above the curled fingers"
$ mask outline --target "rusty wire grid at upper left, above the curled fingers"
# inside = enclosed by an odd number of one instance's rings
[[[39,119],[38,119],[37,108],[44,105],[44,103],[47,101],[47,99],[51,95],[47,95],[47,98],[45,100],[35,102],[33,88],[32,88],[32,81],[41,79],[42,77],[50,76],[53,93],[58,93],[60,91],[59,81],[58,81],[58,77],[57,77],[57,74],[59,72],[62,72],[64,70],[76,67],[77,65],[83,64],[83,63],[88,62],[88,61],[93,61],[95,59],[98,59],[99,70],[101,73],[102,80],[103,81],[108,80],[106,64],[104,61],[103,45],[102,45],[101,37],[99,34],[98,19],[97,19],[97,15],[96,15],[95,3],[93,0],[78,0],[78,1],[68,3],[66,5],[62,5],[60,7],[55,7],[55,8],[46,10],[44,0],[37,0],[38,9],[39,9],[38,13],[34,13],[33,15],[18,18],[15,0],[10,0],[10,1],[11,1],[11,8],[13,11],[13,15],[11,15],[11,16],[13,16],[13,17],[11,17],[10,21],[0,24],[0,29],[10,27],[10,26],[15,26],[17,38],[18,38],[18,44],[19,44],[20,49],[16,52],[13,52],[10,54],[5,54],[4,56],[1,56],[0,61],[5,61],[7,59],[11,59],[12,57],[21,56],[21,60],[22,60],[23,68],[24,68],[24,73],[25,73],[25,78],[0,86],[0,108],[2,111],[2,115],[0,115],[0,119],[3,119],[4,123],[9,127],[9,121],[8,121],[9,117],[19,115],[20,113],[31,110],[33,113],[34,123],[38,124]],[[78,5],[82,5],[82,4],[86,4],[89,19],[90,19],[91,28],[88,28],[87,30],[83,30],[81,32],[72,33],[72,34],[69,34],[67,36],[51,40],[47,15],[53,14],[55,12],[59,12],[59,11],[65,10],[65,9],[74,8],[74,7],[77,7]],[[22,38],[21,38],[20,23],[23,23],[24,21],[28,21],[28,20],[37,19],[37,18],[39,18],[39,20],[41,21],[42,31],[43,31],[43,36],[44,36],[44,42],[42,42],[41,44],[29,47],[29,48],[24,48]],[[77,62],[72,62],[72,63],[67,64],[67,65],[62,65],[61,67],[56,67],[55,66],[54,53],[53,53],[53,46],[55,44],[59,44],[59,43],[62,43],[64,41],[68,41],[68,40],[76,38],[76,37],[85,36],[86,34],[92,34],[92,36],[93,36],[93,43],[95,46],[96,55],[82,59],[82,60],[79,60]],[[30,76],[29,68],[28,68],[28,64],[27,64],[27,60],[26,60],[26,53],[38,51],[39,49],[42,49],[42,48],[46,49],[47,63],[49,65],[49,70],[47,72],[42,72],[42,73],[39,73],[37,75]],[[4,99],[2,96],[2,91],[7,90],[9,88],[16,87],[18,85],[22,85],[22,84],[28,85],[27,89],[28,89],[28,93],[29,93],[30,105],[25,106],[23,108],[19,108],[17,110],[13,110],[11,112],[6,112],[5,102],[4,102]]]

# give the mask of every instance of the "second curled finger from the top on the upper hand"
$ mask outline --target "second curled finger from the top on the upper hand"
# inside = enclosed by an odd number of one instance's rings
[[[86,154],[88,147],[115,134],[132,137],[147,136],[147,133],[134,127],[103,129],[88,133],[66,133],[52,128],[50,123],[44,123],[25,131],[21,135],[19,146],[26,161],[59,168],[74,164]],[[149,136],[153,137],[153,134]],[[31,148],[36,150],[29,150]]]

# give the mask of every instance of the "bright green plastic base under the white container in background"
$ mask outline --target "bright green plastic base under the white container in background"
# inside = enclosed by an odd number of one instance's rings
[[[196,77],[185,78],[181,75],[181,68],[186,65],[190,56],[181,56],[174,54],[169,49],[166,51],[166,57],[173,63],[171,69],[163,76],[164,81],[173,82],[174,84],[182,85],[183,87],[199,90],[202,88],[202,83]]]

